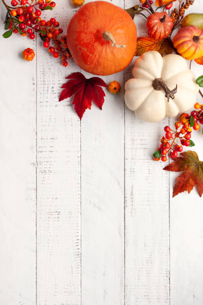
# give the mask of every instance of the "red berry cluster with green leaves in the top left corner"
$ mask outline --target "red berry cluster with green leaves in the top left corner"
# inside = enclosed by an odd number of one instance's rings
[[[30,39],[34,39],[36,32],[39,32],[44,41],[44,47],[49,48],[49,52],[55,58],[61,55],[63,66],[68,65],[67,58],[71,57],[71,54],[67,48],[66,36],[58,38],[59,34],[63,32],[63,29],[59,28],[59,22],[55,18],[46,21],[40,17],[41,11],[52,9],[56,6],[55,2],[51,0],[11,0],[12,6],[5,3],[4,5],[7,8],[5,29],[9,29],[8,32],[19,32],[21,36],[28,35]],[[50,46],[50,42],[53,42],[53,46]]]

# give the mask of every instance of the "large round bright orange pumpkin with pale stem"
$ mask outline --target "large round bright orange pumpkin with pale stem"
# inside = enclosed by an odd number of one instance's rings
[[[76,64],[96,75],[123,70],[136,50],[136,26],[122,8],[94,1],[83,5],[71,19],[67,46]]]

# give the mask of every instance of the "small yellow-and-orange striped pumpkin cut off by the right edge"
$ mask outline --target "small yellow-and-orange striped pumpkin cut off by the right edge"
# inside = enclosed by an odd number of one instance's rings
[[[183,27],[174,36],[173,44],[184,58],[199,58],[203,55],[203,29],[194,25]]]

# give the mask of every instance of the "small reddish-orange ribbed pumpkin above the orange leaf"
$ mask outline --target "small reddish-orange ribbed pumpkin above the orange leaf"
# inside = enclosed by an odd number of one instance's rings
[[[155,12],[147,18],[148,35],[154,39],[167,38],[173,27],[173,20],[166,12]]]

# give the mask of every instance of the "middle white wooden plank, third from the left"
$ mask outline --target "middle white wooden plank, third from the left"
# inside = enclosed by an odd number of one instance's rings
[[[123,7],[123,0],[113,4]],[[104,89],[102,111],[93,103],[81,123],[82,305],[123,305],[123,72],[102,79],[122,90]]]

